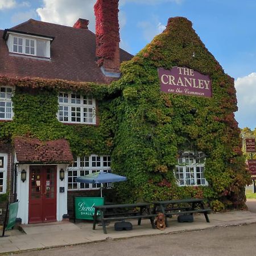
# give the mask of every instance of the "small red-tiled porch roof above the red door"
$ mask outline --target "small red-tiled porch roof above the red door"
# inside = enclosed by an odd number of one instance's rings
[[[42,142],[36,138],[14,138],[19,163],[70,163],[73,156],[65,139]]]

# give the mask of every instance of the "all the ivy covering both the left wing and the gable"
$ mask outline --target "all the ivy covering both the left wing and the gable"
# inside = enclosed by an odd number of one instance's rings
[[[174,66],[210,75],[213,97],[160,92],[157,68]],[[234,80],[205,48],[191,22],[170,19],[166,30],[121,71],[122,78],[111,85],[0,77],[0,84],[16,86],[15,116],[0,122],[0,140],[11,142],[15,135],[65,138],[74,155],[111,154],[112,170],[127,176],[126,182],[115,184],[122,203],[205,197],[214,210],[244,208],[250,176],[234,119]],[[98,126],[57,121],[59,90],[95,97]],[[185,150],[207,155],[207,187],[177,186],[174,168]]]

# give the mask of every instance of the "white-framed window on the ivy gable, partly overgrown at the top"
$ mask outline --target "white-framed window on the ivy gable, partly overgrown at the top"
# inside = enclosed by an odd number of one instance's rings
[[[208,185],[204,177],[205,154],[203,152],[184,152],[175,166],[177,184]]]

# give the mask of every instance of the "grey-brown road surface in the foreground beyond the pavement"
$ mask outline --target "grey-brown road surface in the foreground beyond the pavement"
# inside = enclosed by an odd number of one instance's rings
[[[171,256],[255,255],[256,224],[108,240],[12,255],[26,256]]]

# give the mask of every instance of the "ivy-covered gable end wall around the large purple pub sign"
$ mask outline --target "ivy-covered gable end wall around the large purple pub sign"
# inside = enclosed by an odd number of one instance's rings
[[[194,55],[194,56],[193,56]],[[160,92],[158,67],[188,67],[212,79],[213,97]],[[205,197],[214,210],[245,207],[245,170],[234,80],[205,48],[192,23],[168,20],[131,61],[122,66],[115,88],[122,95],[112,102],[117,120],[112,167],[128,181],[118,185],[127,201]],[[196,109],[195,115],[191,109]],[[177,187],[174,167],[180,151],[207,155],[208,187]]]

